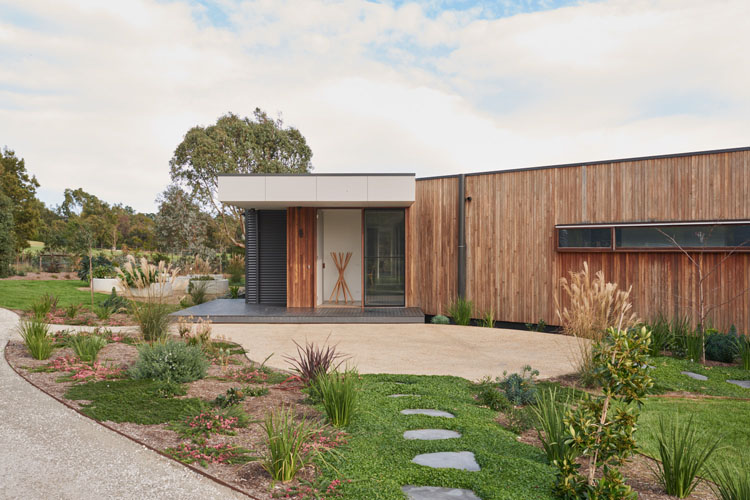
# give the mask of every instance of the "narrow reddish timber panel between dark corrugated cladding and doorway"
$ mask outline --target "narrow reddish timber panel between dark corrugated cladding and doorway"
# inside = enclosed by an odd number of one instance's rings
[[[317,209],[287,209],[287,307],[315,307]]]

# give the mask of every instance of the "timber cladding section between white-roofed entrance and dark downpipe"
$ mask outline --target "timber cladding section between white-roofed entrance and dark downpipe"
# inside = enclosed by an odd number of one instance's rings
[[[444,314],[458,293],[458,178],[418,180],[406,211],[406,301]]]

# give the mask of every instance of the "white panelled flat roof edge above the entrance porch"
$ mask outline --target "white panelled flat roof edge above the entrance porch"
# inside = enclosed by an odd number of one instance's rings
[[[415,174],[230,174],[219,200],[240,208],[408,207]]]

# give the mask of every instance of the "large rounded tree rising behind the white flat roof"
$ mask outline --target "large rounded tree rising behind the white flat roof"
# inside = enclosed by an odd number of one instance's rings
[[[228,113],[215,125],[193,127],[170,161],[172,181],[221,221],[232,244],[245,246],[242,210],[225,206],[218,197],[219,174],[307,173],[312,150],[294,127],[270,118],[259,108],[253,119]]]

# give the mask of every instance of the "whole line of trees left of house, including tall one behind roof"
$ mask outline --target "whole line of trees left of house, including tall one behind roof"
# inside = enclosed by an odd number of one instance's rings
[[[169,162],[172,184],[157,198],[156,213],[110,204],[83,189],[66,189],[48,207],[26,163],[0,151],[0,277],[30,240],[45,252],[87,255],[91,249],[158,251],[209,257],[244,247],[242,212],[218,200],[222,173],[306,173],[312,151],[294,127],[257,109],[252,118],[232,113],[215,125],[193,127]]]

